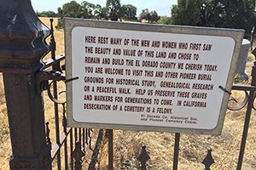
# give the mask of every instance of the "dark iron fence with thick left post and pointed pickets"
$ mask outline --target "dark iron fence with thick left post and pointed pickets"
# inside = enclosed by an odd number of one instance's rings
[[[0,16],[0,71],[3,72],[13,150],[10,169],[82,169],[83,157],[90,156],[90,150],[93,156],[87,167],[95,169],[98,150],[106,131],[98,130],[96,135],[96,131],[91,128],[67,127],[65,101],[58,97],[64,92],[59,90],[58,82],[73,80],[66,80],[63,74],[65,56],[55,56],[52,24],[49,30],[38,20],[30,0],[1,0],[0,3],[4,7],[3,15]],[[47,45],[45,38],[49,35],[50,42]],[[42,65],[41,58],[49,51],[51,58]],[[256,49],[253,50],[253,54],[256,56]],[[253,65],[252,77],[249,86],[233,86],[233,90],[244,91],[246,97],[241,105],[229,108],[241,110],[247,107],[237,170],[241,169],[250,117],[252,110],[255,110],[253,102],[256,89],[256,62]],[[54,102],[52,122],[44,122],[44,101],[41,95],[43,91],[47,92],[49,99]],[[233,98],[230,100],[236,101]],[[173,170],[177,170],[180,135],[175,134]],[[207,150],[207,156],[202,161],[205,169],[210,169],[214,162],[211,151]],[[141,169],[147,169],[149,158],[146,146],[143,146],[141,155],[137,156]],[[108,130],[108,169],[114,169],[113,130]]]

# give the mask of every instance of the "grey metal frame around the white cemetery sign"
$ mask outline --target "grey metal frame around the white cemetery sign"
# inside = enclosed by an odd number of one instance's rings
[[[235,40],[235,48],[233,57],[230,63],[229,76],[226,82],[227,91],[231,91],[234,81],[236,62],[239,56],[241,42],[244,35],[244,30],[223,29],[223,28],[209,28],[209,27],[194,27],[194,26],[166,26],[166,25],[153,25],[141,23],[124,23],[103,20],[84,20],[84,19],[64,19],[65,30],[65,54],[66,54],[66,74],[67,79],[72,77],[72,31],[76,26],[95,27],[104,29],[126,30],[126,31],[156,31],[175,34],[189,34],[189,35],[206,35],[206,36],[220,36],[231,37]],[[136,130],[136,131],[156,131],[156,132],[170,132],[170,133],[198,133],[198,134],[220,134],[224,125],[224,116],[227,111],[230,94],[224,92],[218,124],[213,129],[193,129],[183,127],[155,127],[155,126],[138,126],[138,125],[120,125],[120,124],[104,124],[104,123],[85,123],[75,122],[73,120],[73,82],[67,82],[67,127],[93,127],[93,128],[106,128],[106,129],[123,129],[123,130]]]

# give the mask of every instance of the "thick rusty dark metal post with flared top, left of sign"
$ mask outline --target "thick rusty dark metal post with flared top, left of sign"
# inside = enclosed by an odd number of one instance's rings
[[[0,0],[0,71],[9,116],[13,155],[10,169],[49,169],[44,105],[35,74],[48,53],[49,29],[38,20],[30,0]]]

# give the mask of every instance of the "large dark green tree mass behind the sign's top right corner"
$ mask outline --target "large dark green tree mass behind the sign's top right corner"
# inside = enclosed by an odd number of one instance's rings
[[[172,24],[245,29],[255,26],[255,0],[178,0]]]

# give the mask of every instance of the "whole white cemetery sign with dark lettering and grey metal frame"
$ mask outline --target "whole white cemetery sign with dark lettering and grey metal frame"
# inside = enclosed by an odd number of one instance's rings
[[[221,133],[243,33],[66,19],[68,126]]]

